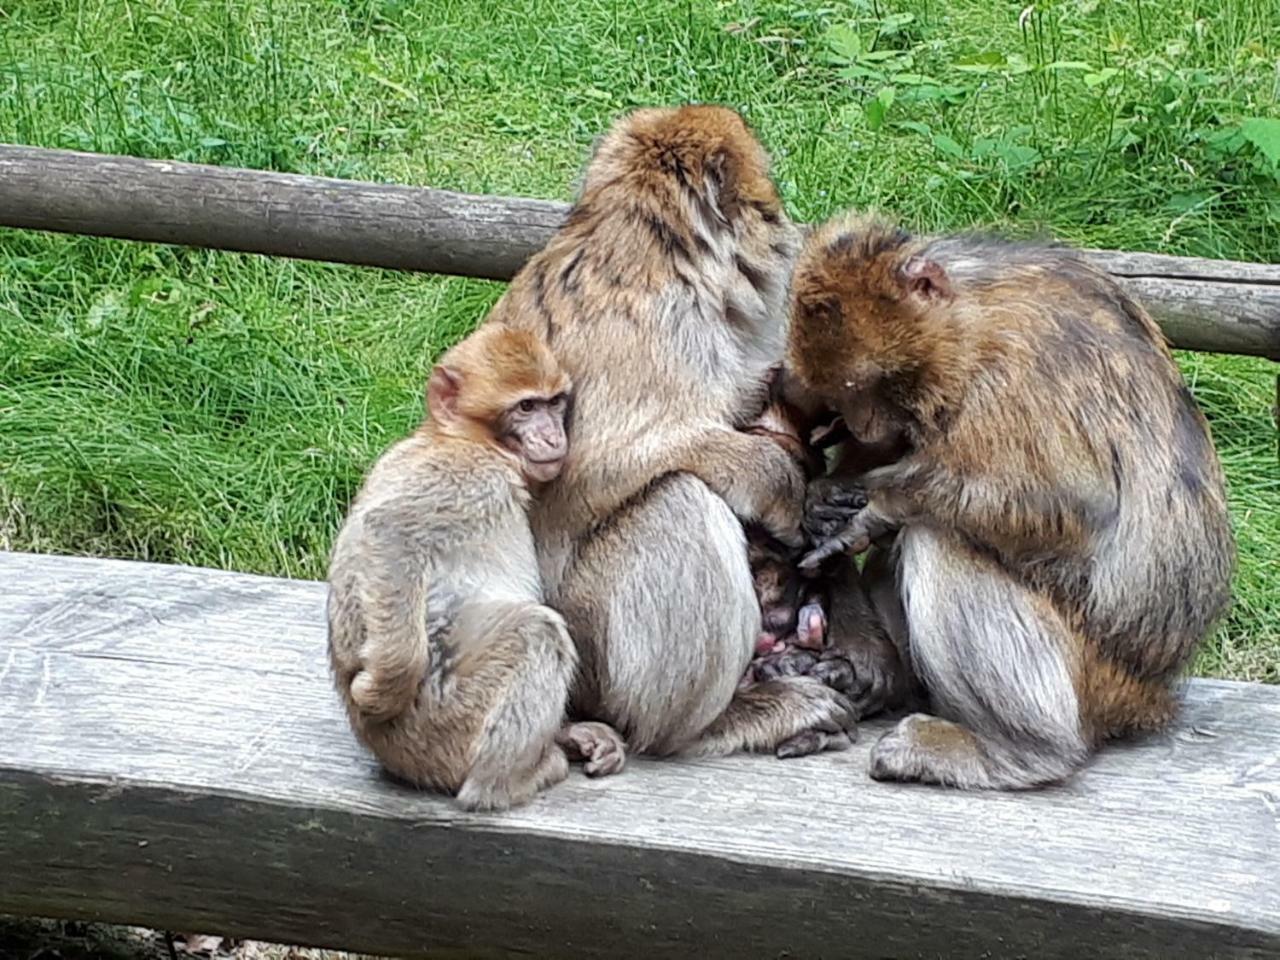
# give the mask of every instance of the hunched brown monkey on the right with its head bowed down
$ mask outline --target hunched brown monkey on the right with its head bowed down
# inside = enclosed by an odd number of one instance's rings
[[[1208,426],[1111,278],[840,220],[797,264],[790,360],[855,442],[906,449],[844,529],[836,495],[814,520],[854,552],[893,538],[872,593],[936,714],[876,745],[874,778],[1030,787],[1172,717],[1234,543]]]

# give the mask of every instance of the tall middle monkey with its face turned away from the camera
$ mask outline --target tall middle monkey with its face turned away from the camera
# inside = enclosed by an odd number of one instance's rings
[[[573,707],[636,753],[849,742],[851,704],[817,680],[736,690],[760,630],[739,518],[801,540],[799,465],[735,429],[781,360],[799,239],[736,113],[643,109],[492,314],[576,384],[568,461],[530,520],[579,646]]]

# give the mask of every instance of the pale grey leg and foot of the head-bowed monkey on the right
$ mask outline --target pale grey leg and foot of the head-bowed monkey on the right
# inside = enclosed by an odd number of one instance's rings
[[[910,657],[938,714],[911,714],[872,750],[876,780],[1016,790],[1070,776],[1089,754],[1076,696],[1079,637],[1043,596],[961,541],[900,539]]]

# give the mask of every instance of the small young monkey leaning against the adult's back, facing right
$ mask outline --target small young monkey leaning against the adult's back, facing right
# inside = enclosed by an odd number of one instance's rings
[[[564,462],[570,379],[525,330],[481,328],[431,371],[431,419],[370,470],[333,548],[329,654],[388,771],[503,809],[621,768],[604,724],[561,730],[577,657],[543,604],[530,486]],[[557,745],[557,741],[559,745]]]

